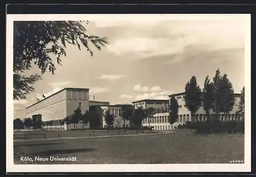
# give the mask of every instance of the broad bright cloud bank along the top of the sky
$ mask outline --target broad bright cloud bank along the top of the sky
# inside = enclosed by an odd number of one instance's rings
[[[207,52],[244,47],[245,23],[241,19],[162,20],[152,23],[112,21],[107,23],[101,25],[109,25],[113,30],[118,27],[118,33],[112,39],[111,45],[106,48],[117,56],[130,55],[130,58],[134,59],[183,54],[187,46],[193,47],[194,45],[197,47],[200,45],[200,50]],[[148,28],[143,28],[146,24]],[[155,30],[161,35],[156,35]],[[180,61],[183,61],[182,57],[174,60],[174,62]]]

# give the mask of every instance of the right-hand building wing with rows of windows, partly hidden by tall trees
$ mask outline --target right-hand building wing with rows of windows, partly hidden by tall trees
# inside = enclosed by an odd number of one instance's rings
[[[234,94],[234,105],[232,110],[229,112],[229,114],[220,113],[219,114],[219,120],[221,121],[232,121],[232,120],[241,120],[241,117],[237,117],[236,112],[239,110],[239,102],[240,102],[240,95],[238,93]],[[166,130],[172,130],[172,126],[170,126],[170,123],[168,122],[169,119],[169,103],[170,103],[170,97],[172,95],[169,95],[168,100],[159,100],[159,99],[143,99],[136,102],[132,102],[135,106],[135,109],[138,107],[142,107],[143,109],[147,108],[154,108],[154,116],[152,118],[146,118],[143,119],[142,125],[144,127],[153,127],[154,130],[158,131],[166,131]],[[173,127],[177,127],[179,124],[183,124],[187,121],[191,121],[191,113],[187,109],[183,96],[184,92],[174,94],[175,98],[177,99],[179,108],[178,108],[178,114],[179,118],[175,121],[173,124]],[[212,114],[212,111],[210,111],[210,114]],[[203,108],[203,104],[201,104],[200,108],[194,115],[194,121],[206,121],[206,113]]]

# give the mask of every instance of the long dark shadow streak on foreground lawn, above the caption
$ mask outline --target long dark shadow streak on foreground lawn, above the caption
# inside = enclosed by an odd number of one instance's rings
[[[52,156],[56,154],[72,154],[72,153],[87,153],[95,150],[94,148],[82,148],[82,149],[52,149],[47,151],[42,151],[38,153],[30,154],[32,156]]]

